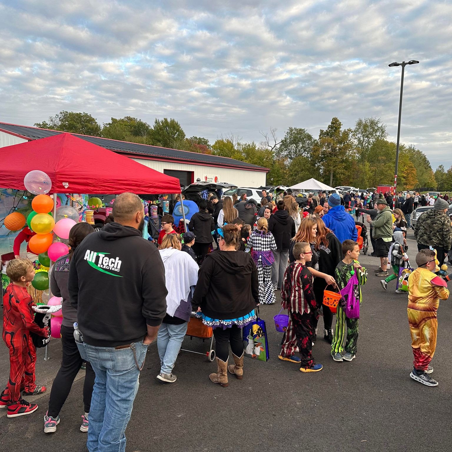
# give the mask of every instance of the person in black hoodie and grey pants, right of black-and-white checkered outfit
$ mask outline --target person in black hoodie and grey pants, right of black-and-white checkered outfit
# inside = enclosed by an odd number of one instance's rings
[[[286,210],[284,201],[278,201],[278,210],[268,220],[268,231],[275,238],[276,250],[273,250],[274,262],[272,264],[273,289],[281,288],[284,272],[289,261],[289,246],[292,237],[295,237],[295,221]]]

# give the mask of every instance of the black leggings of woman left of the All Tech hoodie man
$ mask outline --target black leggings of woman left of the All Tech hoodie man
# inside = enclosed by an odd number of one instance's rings
[[[52,391],[50,391],[48,415],[56,418],[66,402],[72,383],[80,370],[83,359],[80,356],[74,339],[74,329],[61,325],[61,346],[63,347],[63,358],[61,367],[53,380]],[[94,370],[91,364],[86,363],[85,383],[83,385],[83,403],[85,413],[89,413],[91,407],[91,395],[94,386]]]

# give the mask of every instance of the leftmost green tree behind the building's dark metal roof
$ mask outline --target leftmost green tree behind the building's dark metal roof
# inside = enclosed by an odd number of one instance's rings
[[[44,129],[61,130],[62,132],[80,133],[92,137],[101,136],[101,128],[97,120],[89,113],[61,111],[49,117],[49,122],[35,122],[36,127]]]

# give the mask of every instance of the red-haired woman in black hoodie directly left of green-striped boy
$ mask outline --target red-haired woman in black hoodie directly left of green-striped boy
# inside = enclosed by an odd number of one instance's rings
[[[339,239],[325,227],[325,223],[319,217],[314,218],[317,223],[317,233],[315,235],[315,251],[319,259],[319,272],[326,273],[334,278],[334,270],[337,264],[344,259],[342,245]],[[327,287],[323,278],[314,278],[314,295],[320,303],[323,301],[323,292]],[[323,324],[325,327],[324,339],[331,344],[333,342],[333,313],[328,306],[322,304]]]

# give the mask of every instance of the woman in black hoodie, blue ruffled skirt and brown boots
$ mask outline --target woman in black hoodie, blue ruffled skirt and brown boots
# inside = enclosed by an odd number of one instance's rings
[[[235,224],[223,226],[218,241],[220,250],[208,254],[198,274],[192,305],[199,306],[197,316],[213,328],[217,372],[209,378],[228,386],[227,371],[243,378],[242,328],[256,320],[259,304],[257,268],[249,253],[236,251],[240,240]],[[231,345],[234,364],[227,365]]]

